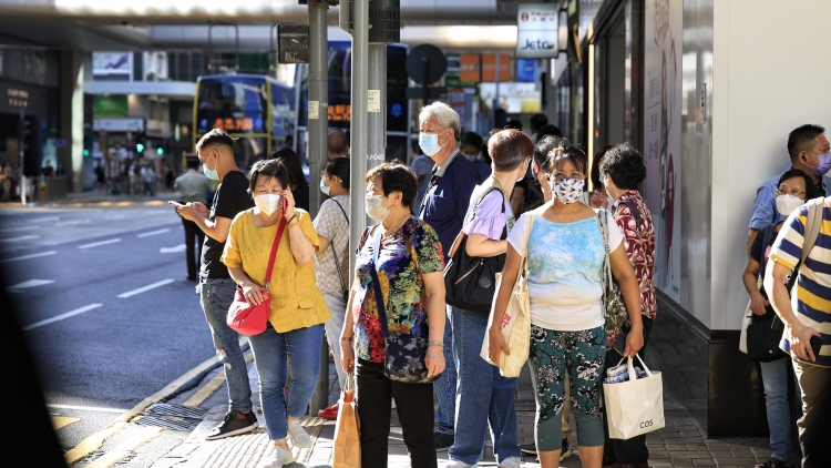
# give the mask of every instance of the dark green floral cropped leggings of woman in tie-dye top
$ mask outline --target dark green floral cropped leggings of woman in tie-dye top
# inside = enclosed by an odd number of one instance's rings
[[[537,450],[547,451],[554,449],[547,447],[554,446],[560,449],[565,373],[568,373],[579,445],[603,445],[601,385],[605,357],[606,332],[602,326],[578,332],[531,326],[529,366],[537,408]]]

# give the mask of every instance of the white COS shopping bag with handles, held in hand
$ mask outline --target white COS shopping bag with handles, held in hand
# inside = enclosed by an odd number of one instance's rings
[[[649,370],[644,359],[635,356],[644,367],[646,377],[633,379],[635,366],[629,357],[629,380],[603,384],[608,434],[613,439],[626,440],[664,427],[664,383],[660,373]]]

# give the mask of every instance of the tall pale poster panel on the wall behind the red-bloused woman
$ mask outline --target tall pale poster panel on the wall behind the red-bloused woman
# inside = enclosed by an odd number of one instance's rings
[[[683,0],[645,2],[644,159],[655,223],[655,286],[680,302]]]

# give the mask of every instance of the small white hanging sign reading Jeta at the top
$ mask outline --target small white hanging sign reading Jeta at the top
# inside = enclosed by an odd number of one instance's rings
[[[557,3],[516,6],[516,57],[550,59],[557,57],[560,17]]]

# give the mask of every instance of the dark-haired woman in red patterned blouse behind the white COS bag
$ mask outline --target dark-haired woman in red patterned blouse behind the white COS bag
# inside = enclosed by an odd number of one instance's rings
[[[640,314],[644,324],[644,355],[649,339],[649,330],[655,319],[655,232],[653,217],[646,207],[637,186],[646,177],[646,165],[640,153],[628,143],[611,149],[599,166],[601,180],[606,192],[615,199],[611,210],[615,214],[617,226],[624,233],[624,248],[635,268],[635,276],[640,288]],[[616,349],[608,352],[606,366],[614,366],[620,360]],[[646,435],[627,440],[609,439],[603,456],[603,466],[646,468],[649,451],[646,449]]]

